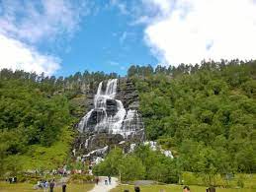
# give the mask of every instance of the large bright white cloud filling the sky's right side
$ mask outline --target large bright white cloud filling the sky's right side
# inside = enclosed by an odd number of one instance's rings
[[[160,63],[256,59],[253,0],[142,2],[146,11],[138,19],[146,18],[145,41]]]

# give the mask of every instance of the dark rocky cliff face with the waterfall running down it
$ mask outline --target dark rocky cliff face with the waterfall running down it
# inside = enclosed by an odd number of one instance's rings
[[[88,111],[78,124],[73,155],[81,160],[104,158],[114,146],[129,150],[144,140],[138,93],[126,78],[102,82],[89,90]]]

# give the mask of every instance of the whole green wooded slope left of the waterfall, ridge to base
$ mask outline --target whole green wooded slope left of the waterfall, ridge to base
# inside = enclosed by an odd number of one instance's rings
[[[0,174],[55,168],[67,158],[73,124],[84,114],[86,93],[115,73],[48,77],[0,71]],[[78,102],[78,104],[77,104]]]

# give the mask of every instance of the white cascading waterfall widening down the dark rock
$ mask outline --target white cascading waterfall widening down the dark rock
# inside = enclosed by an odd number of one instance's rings
[[[124,138],[135,134],[142,126],[136,110],[126,110],[121,100],[116,99],[118,79],[110,79],[106,88],[101,82],[94,96],[94,107],[79,122],[83,132],[121,134]]]

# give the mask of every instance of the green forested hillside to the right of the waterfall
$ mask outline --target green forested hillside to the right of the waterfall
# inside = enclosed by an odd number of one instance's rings
[[[256,61],[179,66],[179,75],[131,68],[147,139],[170,149],[182,171],[256,172]]]

